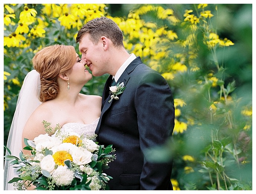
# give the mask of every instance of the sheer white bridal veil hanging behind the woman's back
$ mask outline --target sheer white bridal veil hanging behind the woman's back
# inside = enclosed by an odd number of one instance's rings
[[[42,103],[40,96],[40,74],[36,70],[30,71],[23,82],[17,100],[12,125],[10,128],[7,147],[13,156],[19,157],[22,151],[22,132],[24,125],[34,110]],[[9,153],[6,151],[6,154]],[[14,190],[12,184],[8,184],[13,177],[18,177],[14,173],[14,168],[10,166],[10,161],[4,163],[4,190]]]

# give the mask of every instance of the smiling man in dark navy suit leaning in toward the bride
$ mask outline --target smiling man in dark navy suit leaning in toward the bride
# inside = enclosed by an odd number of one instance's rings
[[[116,149],[116,160],[105,171],[113,177],[110,189],[172,190],[172,162],[147,157],[148,150],[163,145],[173,133],[173,95],[167,82],[125,50],[122,31],[109,18],[86,23],[76,42],[94,76],[110,74],[95,132],[99,144],[113,144]],[[115,93],[109,93],[109,87],[122,82],[124,91],[111,100]]]

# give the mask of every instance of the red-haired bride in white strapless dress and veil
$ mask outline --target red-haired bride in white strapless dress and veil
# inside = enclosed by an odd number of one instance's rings
[[[53,129],[59,124],[62,130],[93,135],[101,114],[101,96],[79,93],[92,75],[73,46],[45,47],[32,62],[34,70],[24,79],[7,141],[14,156],[20,151],[30,154],[22,150],[23,139],[45,134],[43,120]],[[8,184],[13,177],[17,177],[14,168],[5,161],[4,190],[14,190]]]

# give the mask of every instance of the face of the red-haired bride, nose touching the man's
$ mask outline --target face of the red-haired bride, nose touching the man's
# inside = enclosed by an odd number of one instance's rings
[[[76,62],[69,71],[69,82],[76,82],[78,84],[86,84],[90,79],[92,79],[92,74],[86,69],[86,62],[79,58],[76,54]]]

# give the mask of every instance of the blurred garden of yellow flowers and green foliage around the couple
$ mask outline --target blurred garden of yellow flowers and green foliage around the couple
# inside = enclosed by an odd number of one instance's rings
[[[101,16],[173,91],[173,139],[148,154],[173,158],[174,190],[252,190],[252,4],[4,4],[4,145],[33,55],[79,53],[78,30]],[[81,92],[102,95],[107,77]]]

